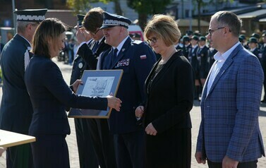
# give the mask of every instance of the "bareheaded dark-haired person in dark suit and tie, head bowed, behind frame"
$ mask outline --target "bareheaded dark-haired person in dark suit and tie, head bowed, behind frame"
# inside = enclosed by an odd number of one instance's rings
[[[89,46],[84,44],[83,33],[80,33],[80,30],[76,33],[78,42],[80,42],[78,54],[87,64],[85,69],[96,69],[99,54],[111,48],[109,44],[104,42],[105,37],[102,30],[99,29],[103,23],[103,12],[102,8],[92,8],[83,19],[83,28],[85,28],[85,31],[89,32],[93,38]],[[113,136],[109,133],[107,119],[83,119],[83,122],[85,122],[88,131],[90,131],[90,133],[85,134],[90,135],[92,138],[92,144],[95,148],[99,166],[101,168],[115,168],[116,160],[114,157]]]

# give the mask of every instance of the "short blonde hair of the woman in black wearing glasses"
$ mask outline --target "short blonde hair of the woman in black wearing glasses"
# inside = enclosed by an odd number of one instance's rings
[[[176,44],[181,37],[179,26],[170,16],[158,14],[152,17],[144,30],[145,40],[155,33],[164,40],[167,46]]]

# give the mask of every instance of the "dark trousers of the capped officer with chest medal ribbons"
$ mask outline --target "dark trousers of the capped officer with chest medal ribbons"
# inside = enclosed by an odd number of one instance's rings
[[[145,164],[144,131],[114,134],[118,168],[143,168]]]

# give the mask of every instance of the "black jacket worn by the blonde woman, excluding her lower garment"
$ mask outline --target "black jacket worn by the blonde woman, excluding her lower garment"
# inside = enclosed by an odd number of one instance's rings
[[[176,52],[152,81],[150,92],[147,85],[159,61],[145,81],[147,102],[145,127],[152,122],[158,133],[179,128],[191,128],[189,112],[193,107],[195,76],[191,64],[181,50]],[[175,132],[175,131],[174,131]]]

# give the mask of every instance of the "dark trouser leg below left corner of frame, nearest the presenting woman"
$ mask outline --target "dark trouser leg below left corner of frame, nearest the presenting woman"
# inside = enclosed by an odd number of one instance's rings
[[[88,119],[74,119],[74,121],[80,168],[98,168],[99,164],[92,144]]]

